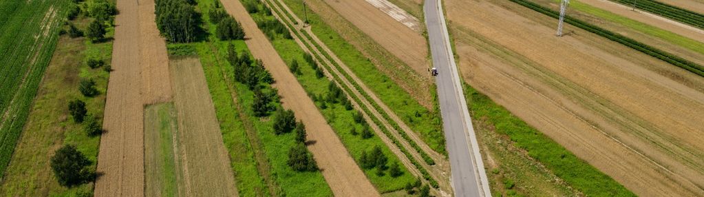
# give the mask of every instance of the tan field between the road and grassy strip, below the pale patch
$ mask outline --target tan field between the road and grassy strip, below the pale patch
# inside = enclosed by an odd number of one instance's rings
[[[427,41],[364,0],[325,0],[337,13],[365,32],[420,75],[427,74]]]

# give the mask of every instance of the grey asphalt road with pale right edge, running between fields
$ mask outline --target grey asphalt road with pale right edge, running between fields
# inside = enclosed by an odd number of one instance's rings
[[[452,170],[455,196],[491,196],[472,117],[458,75],[439,0],[426,0],[425,23],[436,77],[440,113]]]

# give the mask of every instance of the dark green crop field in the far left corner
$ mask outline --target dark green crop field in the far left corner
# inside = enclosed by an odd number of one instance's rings
[[[0,173],[25,126],[58,39],[67,1],[8,1],[0,8]]]

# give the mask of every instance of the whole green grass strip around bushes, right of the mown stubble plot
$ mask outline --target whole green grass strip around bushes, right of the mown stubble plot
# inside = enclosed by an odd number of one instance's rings
[[[214,1],[198,2],[199,11],[204,13],[204,28],[215,32],[215,25],[208,23],[208,15],[205,14],[213,8]],[[260,119],[253,115],[253,91],[247,89],[244,84],[234,82],[233,68],[225,60],[227,47],[234,44],[237,52],[243,53],[249,51],[246,44],[243,41],[218,41],[213,34],[210,34],[208,39],[208,42],[190,45],[196,49],[206,73],[223,140],[230,152],[240,196],[332,196],[332,191],[320,172],[294,172],[287,165],[288,150],[295,145],[294,134],[275,135],[272,132],[272,122],[268,118]],[[229,86],[234,88],[234,94],[231,94]],[[236,102],[233,102],[232,95],[235,96]],[[238,111],[238,106],[244,111]],[[277,104],[277,107],[281,106]],[[244,120],[240,119],[239,113],[244,114]],[[251,124],[256,136],[247,136],[244,122]],[[258,144],[263,150],[253,150],[255,146],[248,137],[263,142]],[[264,153],[265,162],[269,164],[269,168],[265,170],[268,170],[266,174],[270,174],[270,177],[263,177],[261,174],[264,173],[258,172],[259,164],[254,157],[254,151]],[[273,179],[275,185],[267,184],[266,179]],[[276,194],[269,192],[272,190]]]

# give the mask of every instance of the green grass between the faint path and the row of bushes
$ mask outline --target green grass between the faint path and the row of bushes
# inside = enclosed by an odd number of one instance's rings
[[[243,42],[237,44],[238,51],[246,51],[246,45]],[[260,119],[254,115],[251,105],[253,103],[254,93],[249,90],[246,85],[240,84],[239,82],[234,82],[232,79],[234,70],[232,66],[225,61],[225,53],[227,45],[218,44],[218,51],[212,51],[207,47],[198,47],[199,56],[202,59],[209,59],[214,61],[218,59],[218,63],[208,65],[208,66],[218,66],[225,72],[230,80],[225,80],[222,75],[208,75],[212,77],[209,80],[223,80],[223,82],[231,83],[230,85],[235,87],[235,96],[237,96],[237,104],[241,106],[246,106],[243,108],[246,114],[247,120],[252,122],[254,129],[256,129],[256,137],[260,141],[266,141],[264,145],[264,153],[268,163],[270,163],[272,174],[276,174],[273,178],[281,186],[282,195],[286,196],[332,196],[332,191],[327,186],[325,179],[322,177],[320,172],[294,172],[291,167],[287,165],[288,153],[287,150],[294,146],[294,135],[284,134],[277,136],[272,131],[272,121]],[[206,66],[207,67],[207,66]],[[218,68],[212,68],[218,69]],[[216,72],[213,70],[213,72]],[[218,77],[220,79],[218,79]],[[280,107],[280,106],[279,106]],[[230,117],[232,118],[232,117]]]

